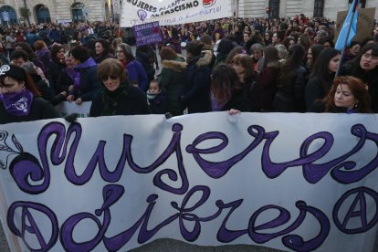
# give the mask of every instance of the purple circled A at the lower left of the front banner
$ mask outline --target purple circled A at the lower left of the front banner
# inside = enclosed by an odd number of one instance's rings
[[[15,219],[15,217],[18,216],[16,214],[16,210],[18,208],[22,209],[21,220]],[[48,238],[48,242],[46,241],[45,237],[42,235],[42,232],[40,231],[40,228],[47,230],[48,227],[46,225],[46,222],[43,223],[43,226],[38,226],[33,215],[31,215],[29,209],[33,209],[47,216],[51,224],[51,236]],[[54,247],[54,245],[58,241],[58,218],[57,215],[55,215],[54,212],[51,211],[51,209],[49,209],[46,205],[23,201],[14,202],[12,205],[10,205],[8,209],[8,213],[6,215],[6,222],[9,227],[9,230],[16,236],[22,238],[29,251],[48,251],[49,249]],[[21,230],[17,228],[16,223],[21,223]],[[30,226],[27,226],[27,223],[29,223]],[[36,248],[29,246],[29,244],[26,241],[26,232],[29,234],[34,234],[37,237],[37,241],[40,247]]]

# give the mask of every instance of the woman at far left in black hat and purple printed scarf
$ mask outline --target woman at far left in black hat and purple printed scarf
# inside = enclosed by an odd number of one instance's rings
[[[61,117],[51,103],[43,100],[24,68],[0,68],[0,124]]]

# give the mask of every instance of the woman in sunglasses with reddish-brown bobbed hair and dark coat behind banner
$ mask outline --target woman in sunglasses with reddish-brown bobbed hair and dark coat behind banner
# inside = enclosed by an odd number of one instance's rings
[[[98,68],[102,88],[92,100],[91,117],[150,114],[146,94],[130,85],[118,59],[107,58]]]

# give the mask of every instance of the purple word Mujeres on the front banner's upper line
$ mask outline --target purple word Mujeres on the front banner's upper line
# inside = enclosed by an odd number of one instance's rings
[[[164,169],[153,178],[153,184],[160,189],[173,193],[184,194],[189,188],[188,178],[184,168],[184,160],[181,148],[181,131],[183,131],[183,125],[179,123],[173,124],[173,137],[169,142],[162,154],[152,162],[151,165],[141,167],[133,161],[131,153],[132,135],[123,134],[123,147],[121,157],[115,169],[111,171],[105,161],[105,141],[100,141],[96,151],[93,153],[89,160],[84,172],[78,175],[75,169],[75,155],[78,151],[78,145],[82,133],[81,125],[78,122],[71,123],[66,132],[66,127],[60,122],[50,122],[43,127],[37,138],[37,148],[39,152],[39,158],[30,153],[20,151],[17,157],[10,163],[9,171],[12,174],[17,186],[20,190],[27,194],[41,194],[45,192],[50,183],[50,167],[48,164],[48,158],[54,165],[64,163],[65,175],[68,181],[72,184],[82,185],[89,182],[92,174],[95,172],[96,167],[99,167],[101,178],[108,183],[116,183],[120,180],[126,163],[130,166],[131,170],[135,173],[152,173],[155,169],[160,167],[173,153],[177,159],[178,174],[172,169]],[[218,179],[226,175],[236,163],[242,161],[249,152],[252,152],[257,148],[259,144],[263,144],[263,151],[261,153],[261,169],[268,178],[276,178],[281,173],[284,173],[287,169],[296,167],[302,167],[302,173],[304,179],[310,184],[316,184],[327,173],[331,171],[331,177],[341,184],[352,184],[360,181],[367,174],[372,173],[378,166],[378,155],[373,157],[373,160],[367,163],[365,166],[354,169],[356,163],[352,161],[346,161],[354,153],[359,152],[364,146],[367,140],[373,141],[378,146],[378,135],[369,131],[362,124],[356,124],[352,126],[352,135],[359,138],[355,146],[351,151],[342,154],[326,163],[315,163],[320,158],[324,157],[331,151],[331,147],[334,142],[334,138],[330,132],[321,131],[308,137],[300,146],[299,158],[284,163],[274,163],[269,154],[269,150],[274,140],[278,137],[279,131],[266,132],[265,129],[258,125],[249,126],[247,129],[249,135],[251,135],[251,143],[242,152],[228,158],[225,161],[213,162],[207,161],[203,156],[221,152],[228,145],[228,138],[226,134],[219,131],[205,132],[198,136],[192,144],[189,144],[185,151],[191,153],[194,160],[199,167],[210,177]],[[50,138],[55,136],[51,150],[47,150],[47,142]],[[73,136],[73,140],[71,138]],[[15,138],[15,137],[13,137]],[[199,149],[196,146],[202,142],[208,140],[221,141],[216,146]],[[309,153],[309,147],[311,142],[321,140],[323,143],[318,150]],[[72,142],[68,149],[68,142]],[[263,143],[264,142],[264,143]],[[17,145],[20,145],[19,143]],[[175,188],[169,184],[166,184],[162,180],[163,175],[168,175],[172,180],[181,178],[182,184],[180,187]],[[31,184],[30,181],[34,183]],[[40,182],[37,184],[37,182]]]

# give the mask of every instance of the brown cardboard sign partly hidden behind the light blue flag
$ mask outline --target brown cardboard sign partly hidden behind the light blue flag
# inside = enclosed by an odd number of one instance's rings
[[[341,31],[342,24],[344,23],[344,20],[347,15],[348,11],[340,11],[337,13],[334,41],[337,41]],[[360,8],[358,10],[357,34],[355,37],[353,37],[353,41],[358,41],[362,43],[366,37],[372,37],[372,31],[374,28],[374,16],[375,7]]]

